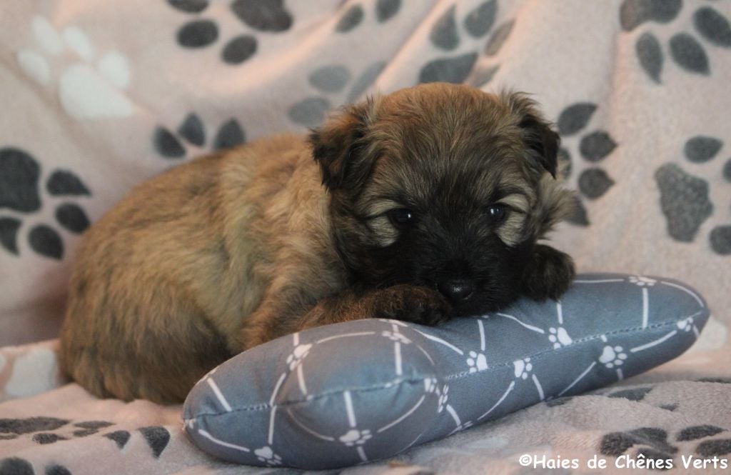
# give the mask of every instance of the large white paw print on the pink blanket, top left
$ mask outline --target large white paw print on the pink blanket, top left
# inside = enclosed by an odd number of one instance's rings
[[[58,97],[69,116],[95,119],[131,116],[133,107],[121,90],[129,86],[129,64],[118,51],[107,51],[97,58],[96,48],[77,26],[58,32],[41,16],[33,18],[33,35],[42,53],[33,49],[18,51],[18,64],[39,84],[52,81],[50,57],[72,51],[78,61],[58,76]],[[45,55],[45,56],[44,56]]]

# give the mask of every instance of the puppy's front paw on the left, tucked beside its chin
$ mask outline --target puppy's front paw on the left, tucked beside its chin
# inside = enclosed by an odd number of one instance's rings
[[[438,325],[452,317],[452,307],[441,293],[416,285],[394,285],[374,295],[376,318],[393,318],[422,325]]]

